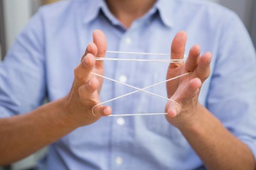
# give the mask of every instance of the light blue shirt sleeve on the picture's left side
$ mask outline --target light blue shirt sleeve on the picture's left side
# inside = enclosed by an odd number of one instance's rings
[[[0,63],[0,118],[29,112],[46,93],[43,24],[36,14]]]

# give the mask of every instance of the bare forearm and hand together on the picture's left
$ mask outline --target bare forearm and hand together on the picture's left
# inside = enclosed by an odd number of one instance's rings
[[[0,165],[10,164],[42,148],[74,129],[94,123],[111,114],[111,107],[98,105],[103,79],[91,72],[103,75],[103,62],[107,41],[96,30],[81,63],[75,68],[75,79],[70,93],[62,99],[46,103],[37,109],[11,118],[0,119]],[[21,144],[20,141],[26,141]]]

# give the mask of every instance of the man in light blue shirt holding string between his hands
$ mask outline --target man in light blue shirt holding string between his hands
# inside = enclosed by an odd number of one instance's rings
[[[172,39],[171,58],[186,53],[185,63],[95,60],[107,49],[168,53]],[[255,56],[238,17],[212,3],[69,0],[42,7],[0,66],[0,164],[51,144],[39,169],[253,170]],[[130,91],[91,71],[141,88],[191,73],[151,89],[179,105],[140,92],[97,106],[94,116],[97,103]],[[50,102],[39,107],[46,95]],[[106,117],[164,107],[166,119]]]

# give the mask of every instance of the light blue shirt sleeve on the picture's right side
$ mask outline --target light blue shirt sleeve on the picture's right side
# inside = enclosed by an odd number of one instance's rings
[[[256,52],[235,14],[226,17],[219,42],[207,108],[256,157]]]

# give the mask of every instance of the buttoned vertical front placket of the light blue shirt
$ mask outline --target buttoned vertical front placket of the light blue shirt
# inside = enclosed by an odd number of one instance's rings
[[[120,41],[118,51],[132,51],[132,37],[124,35]],[[124,56],[119,54],[118,58],[127,58],[129,56]],[[131,68],[131,62],[117,61],[115,68],[114,79],[119,82],[129,84],[129,74]],[[128,93],[130,87],[115,83],[115,97]],[[120,98],[114,101],[113,113],[115,114],[125,114],[129,111],[127,108],[127,98]],[[130,105],[130,104],[129,104]],[[114,123],[112,124],[112,168],[127,169],[129,165],[129,160],[125,155],[125,151],[130,148],[131,138],[130,136],[130,119],[124,119],[123,117],[114,118]]]

